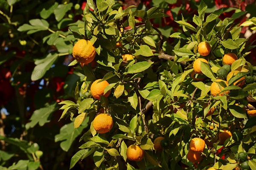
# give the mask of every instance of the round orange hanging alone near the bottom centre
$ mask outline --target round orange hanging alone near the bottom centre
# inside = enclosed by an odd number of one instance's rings
[[[126,156],[130,161],[141,161],[144,156],[144,150],[139,146],[132,144],[127,148]]]

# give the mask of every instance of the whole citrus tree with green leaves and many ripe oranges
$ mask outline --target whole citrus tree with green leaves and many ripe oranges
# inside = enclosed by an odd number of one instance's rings
[[[206,16],[201,1],[193,23],[176,21],[183,29],[172,46],[151,23],[165,16],[159,8],[113,5],[87,1],[73,31],[70,66],[79,63],[84,79],[76,102],[59,103],[61,118],[90,129],[70,168],[93,155],[109,170],[255,169],[256,75],[244,59],[254,46],[239,37],[246,12],[221,20],[223,9]]]

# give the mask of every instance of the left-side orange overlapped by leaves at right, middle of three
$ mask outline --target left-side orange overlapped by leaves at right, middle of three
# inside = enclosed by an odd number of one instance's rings
[[[98,100],[100,99],[101,95],[104,95],[104,89],[109,85],[108,81],[99,82],[100,80],[101,79],[94,81],[90,88],[93,98],[96,98]],[[109,95],[110,91],[106,92],[104,96],[107,98]]]

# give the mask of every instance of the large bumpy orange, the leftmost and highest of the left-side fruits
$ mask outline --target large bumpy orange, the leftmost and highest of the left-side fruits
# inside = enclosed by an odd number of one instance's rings
[[[92,62],[95,55],[96,51],[90,40],[79,40],[73,47],[73,57],[81,63],[81,65]]]

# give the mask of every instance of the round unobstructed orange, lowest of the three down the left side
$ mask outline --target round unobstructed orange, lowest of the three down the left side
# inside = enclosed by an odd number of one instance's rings
[[[98,133],[107,133],[113,127],[113,118],[109,114],[101,113],[94,118],[93,127]]]

